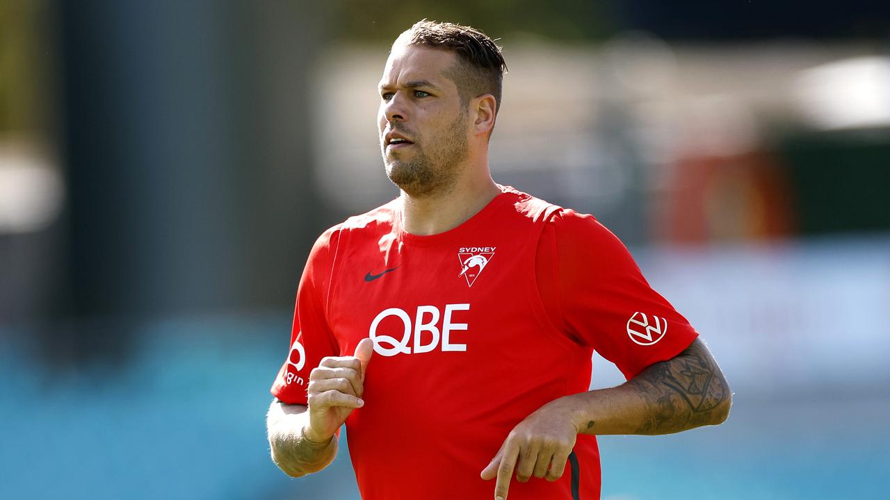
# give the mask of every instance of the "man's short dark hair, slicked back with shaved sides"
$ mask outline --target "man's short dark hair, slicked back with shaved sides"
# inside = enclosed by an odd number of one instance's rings
[[[449,77],[457,85],[464,105],[473,97],[490,93],[495,97],[495,112],[500,109],[506,62],[501,48],[481,30],[450,22],[421,20],[402,33],[401,40],[455,52],[457,64],[449,69]]]

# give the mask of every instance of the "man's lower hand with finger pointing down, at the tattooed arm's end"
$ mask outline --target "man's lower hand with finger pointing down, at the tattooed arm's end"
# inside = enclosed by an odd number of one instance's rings
[[[578,438],[571,403],[570,397],[551,401],[510,431],[498,454],[481,473],[483,480],[498,478],[496,499],[506,500],[514,470],[520,482],[528,481],[531,476],[549,481],[562,477]]]

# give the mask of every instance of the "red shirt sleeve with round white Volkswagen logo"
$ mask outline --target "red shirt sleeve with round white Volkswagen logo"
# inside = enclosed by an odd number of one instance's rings
[[[592,215],[563,210],[545,237],[555,245],[555,290],[562,328],[577,342],[593,347],[628,379],[653,363],[684,351],[698,333],[667,300],[649,286],[619,238]],[[540,246],[546,245],[542,239]],[[544,285],[544,286],[541,286]],[[553,304],[553,302],[551,302]]]

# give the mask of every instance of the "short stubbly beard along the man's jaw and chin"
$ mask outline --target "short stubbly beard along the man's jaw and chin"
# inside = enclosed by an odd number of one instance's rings
[[[409,196],[425,198],[448,192],[457,181],[458,165],[468,157],[466,117],[457,115],[444,132],[437,133],[438,141],[415,144],[414,157],[399,159],[398,152],[383,156],[386,176]],[[427,146],[428,149],[425,149]]]

